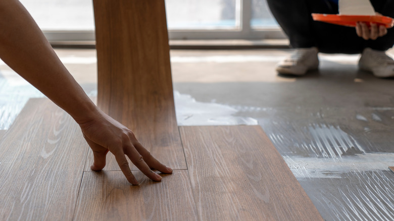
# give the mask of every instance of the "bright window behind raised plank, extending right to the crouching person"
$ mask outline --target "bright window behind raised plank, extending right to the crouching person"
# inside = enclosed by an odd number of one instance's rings
[[[20,0],[52,41],[94,40],[91,0]],[[266,0],[166,0],[170,39],[284,38]]]

